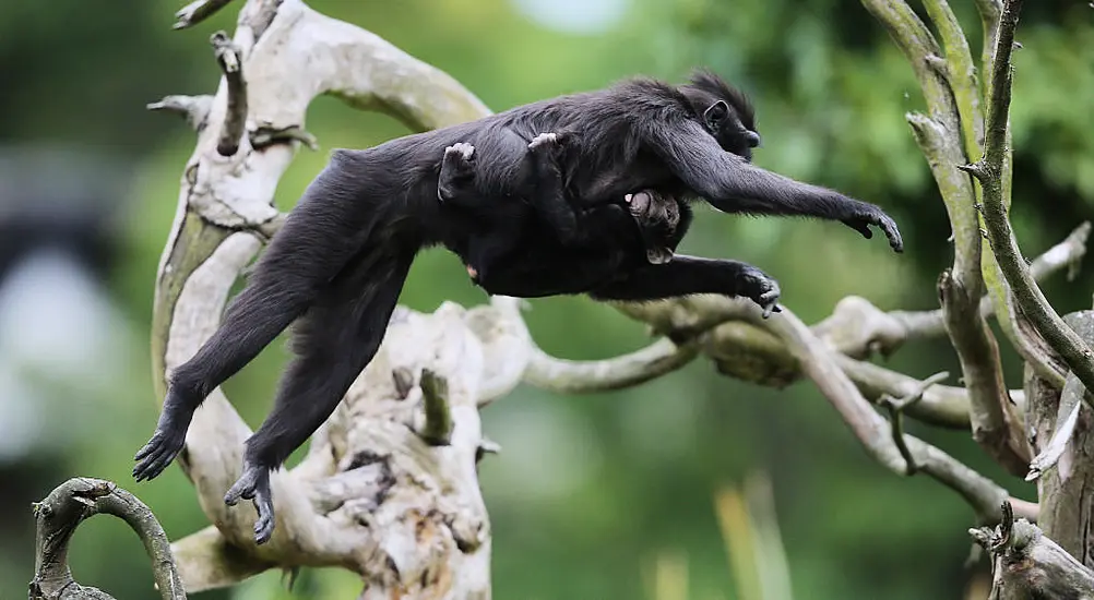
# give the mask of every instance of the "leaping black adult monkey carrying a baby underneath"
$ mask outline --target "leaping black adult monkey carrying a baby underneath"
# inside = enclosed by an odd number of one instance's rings
[[[163,412],[151,440],[137,454],[133,475],[146,480],[162,472],[183,448],[194,411],[206,396],[299,319],[295,357],[274,410],[247,440],[243,475],[224,497],[230,505],[253,499],[259,515],[255,540],[269,539],[270,471],[330,415],[372,360],[418,250],[443,244],[466,261],[475,220],[437,200],[444,149],[461,141],[474,141],[490,157],[476,163],[476,186],[489,190],[488,197],[513,193],[527,153],[525,140],[544,131],[575,131],[581,136],[575,151],[567,153],[563,170],[571,198],[585,205],[618,202],[636,190],[677,200],[702,197],[723,212],[838,220],[865,237],[872,236],[869,226],[876,225],[894,250],[903,250],[896,223],[877,207],[770,173],[734,154],[733,144],[742,139],[750,143],[745,130],[754,129],[747,114],[730,109],[738,96],[710,73],[680,86],[638,79],[368,150],[335,151],[220,328],[171,374]],[[494,127],[514,136],[479,136]],[[635,227],[635,220],[619,212],[626,221],[612,226]],[[743,262],[676,256],[650,264],[640,246],[637,259],[615,271],[575,271],[584,258],[580,250],[566,250],[554,232],[532,230],[517,248],[526,250],[524,258],[499,261],[485,285],[488,292],[589,293],[618,299],[719,293],[747,296],[768,309],[778,298],[778,285]]]

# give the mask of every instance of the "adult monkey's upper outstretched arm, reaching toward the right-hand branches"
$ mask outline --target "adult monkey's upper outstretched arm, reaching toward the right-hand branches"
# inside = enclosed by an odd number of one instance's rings
[[[875,225],[894,250],[904,251],[896,222],[880,208],[755,166],[722,150],[698,122],[654,123],[643,137],[673,174],[722,212],[829,219],[868,238]]]

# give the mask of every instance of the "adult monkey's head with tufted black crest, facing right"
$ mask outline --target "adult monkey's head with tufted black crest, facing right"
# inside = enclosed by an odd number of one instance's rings
[[[744,92],[705,69],[691,73],[691,83],[679,86],[679,91],[722,150],[752,161],[759,133],[756,113]]]

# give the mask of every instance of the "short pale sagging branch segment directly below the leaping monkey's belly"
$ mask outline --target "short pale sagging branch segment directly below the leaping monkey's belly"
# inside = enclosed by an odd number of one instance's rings
[[[563,393],[624,389],[672,373],[698,354],[699,349],[694,343],[676,345],[665,339],[605,361],[567,361],[535,348],[524,380],[538,388]]]

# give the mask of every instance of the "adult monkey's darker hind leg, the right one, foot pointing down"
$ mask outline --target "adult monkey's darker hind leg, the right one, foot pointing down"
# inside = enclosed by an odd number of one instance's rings
[[[247,439],[243,474],[224,495],[229,505],[253,501],[256,543],[274,533],[270,471],[330,416],[375,355],[412,259],[412,254],[362,256],[323,292],[294,332],[296,358],[281,379],[274,410]]]

